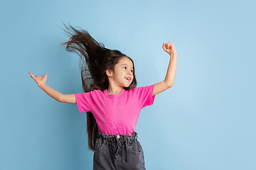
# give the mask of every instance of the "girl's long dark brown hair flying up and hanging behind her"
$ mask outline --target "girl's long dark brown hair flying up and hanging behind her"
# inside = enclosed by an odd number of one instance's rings
[[[65,26],[65,28],[70,30],[67,26]],[[80,56],[80,72],[83,91],[86,93],[93,91],[94,89],[100,89],[101,91],[108,89],[109,81],[106,70],[111,69],[112,72],[114,72],[115,64],[119,62],[121,57],[127,57],[127,55],[119,52],[119,50],[110,50],[105,48],[102,43],[99,43],[92,38],[87,30],[78,30],[73,28],[73,26],[70,26],[70,28],[72,28],[74,33],[63,29],[70,39],[68,42],[61,43],[61,45],[67,45],[65,50],[68,52],[75,52]],[[132,61],[130,57],[128,58]],[[133,61],[132,64],[134,67]],[[129,90],[137,86],[135,68],[133,74],[134,79],[128,87],[124,87],[125,90]],[[87,135],[88,147],[94,151],[95,142],[98,137],[98,127],[95,117],[91,112],[87,112]]]

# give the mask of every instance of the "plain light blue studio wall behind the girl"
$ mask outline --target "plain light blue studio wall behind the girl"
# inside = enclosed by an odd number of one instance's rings
[[[0,169],[92,169],[86,113],[31,79],[82,93],[79,56],[62,28],[88,30],[132,57],[138,86],[163,81],[174,42],[174,86],[143,108],[136,131],[146,169],[256,169],[255,2],[1,1]],[[62,23],[63,22],[63,23]]]

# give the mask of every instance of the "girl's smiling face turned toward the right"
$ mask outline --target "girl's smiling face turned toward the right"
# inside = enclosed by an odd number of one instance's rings
[[[114,82],[114,84],[117,86],[128,87],[134,79],[133,72],[132,61],[127,57],[122,57],[114,66],[112,82]]]

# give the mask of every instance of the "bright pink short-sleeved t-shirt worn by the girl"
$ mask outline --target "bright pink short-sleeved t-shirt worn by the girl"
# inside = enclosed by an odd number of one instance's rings
[[[154,84],[135,87],[119,94],[93,91],[75,94],[80,113],[90,111],[101,132],[109,135],[132,135],[142,108],[154,103]]]

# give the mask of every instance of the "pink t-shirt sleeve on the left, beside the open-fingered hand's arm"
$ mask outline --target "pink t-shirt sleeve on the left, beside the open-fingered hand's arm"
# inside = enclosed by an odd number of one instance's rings
[[[82,94],[75,94],[78,111],[80,113],[91,111],[92,91]]]

